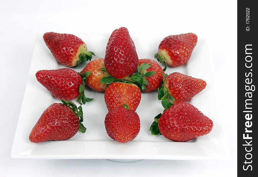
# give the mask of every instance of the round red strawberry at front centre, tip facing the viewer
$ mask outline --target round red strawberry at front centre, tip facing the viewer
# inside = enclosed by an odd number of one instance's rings
[[[112,109],[105,118],[106,132],[117,142],[129,142],[140,131],[140,119],[136,112],[122,106]]]

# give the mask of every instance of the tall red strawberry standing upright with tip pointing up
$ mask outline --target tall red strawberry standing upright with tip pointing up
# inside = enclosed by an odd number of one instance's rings
[[[105,55],[106,71],[117,79],[125,78],[136,72],[138,55],[128,30],[119,28],[110,44],[107,46]]]

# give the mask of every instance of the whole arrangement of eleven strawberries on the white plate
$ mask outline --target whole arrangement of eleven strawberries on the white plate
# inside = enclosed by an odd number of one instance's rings
[[[44,42],[55,59],[66,66],[75,67],[91,60],[93,52],[78,37],[70,34],[45,33]],[[77,73],[71,68],[41,70],[36,78],[50,93],[62,101],[50,105],[39,118],[29,136],[31,142],[67,140],[78,130],[85,132],[82,106],[93,99],[84,94],[85,85],[98,92],[105,92],[109,110],[105,118],[106,132],[118,142],[133,140],[140,131],[136,109],[141,91],[158,90],[158,99],[165,108],[155,117],[150,127],[152,135],[162,134],[174,141],[189,141],[206,135],[213,127],[212,121],[186,101],[206,87],[206,82],[181,73],[165,74],[167,66],[184,65],[197,43],[193,33],[164,38],[155,58],[138,59],[136,47],[128,30],[121,27],[112,32],[106,46],[105,58],[90,61]]]

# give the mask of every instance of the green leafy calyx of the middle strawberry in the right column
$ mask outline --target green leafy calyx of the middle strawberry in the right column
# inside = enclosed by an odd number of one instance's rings
[[[161,104],[164,107],[164,111],[170,108],[174,104],[175,98],[168,93],[168,89],[165,88],[165,78],[168,76],[168,74],[163,74],[163,82],[161,86],[158,88],[158,100],[161,100]]]

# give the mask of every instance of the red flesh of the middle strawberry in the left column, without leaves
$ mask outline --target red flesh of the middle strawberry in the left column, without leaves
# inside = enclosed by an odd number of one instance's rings
[[[40,70],[36,78],[57,99],[71,101],[79,96],[81,76],[70,68]]]

